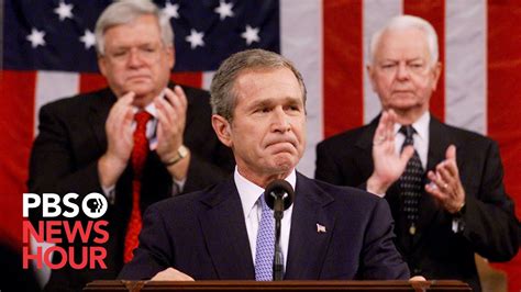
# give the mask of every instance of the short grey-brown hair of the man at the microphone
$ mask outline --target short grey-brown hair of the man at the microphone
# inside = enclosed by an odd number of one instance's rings
[[[293,72],[299,81],[302,102],[306,108],[306,85],[302,75],[295,68],[295,65],[279,54],[255,48],[233,54],[219,67],[210,86],[210,103],[213,114],[219,114],[229,122],[233,120],[233,110],[237,99],[234,85],[241,72],[280,68],[288,68]]]

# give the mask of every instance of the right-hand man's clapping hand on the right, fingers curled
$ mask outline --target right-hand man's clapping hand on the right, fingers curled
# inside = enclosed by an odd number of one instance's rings
[[[465,190],[457,169],[456,146],[448,146],[445,160],[436,166],[436,172],[430,170],[428,178],[431,183],[425,186],[425,191],[436,198],[448,213],[454,214],[462,210],[465,204]]]

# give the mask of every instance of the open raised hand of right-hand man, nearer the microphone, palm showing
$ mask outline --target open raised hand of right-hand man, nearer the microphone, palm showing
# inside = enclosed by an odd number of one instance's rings
[[[414,154],[414,147],[407,146],[401,155],[395,150],[396,113],[392,110],[381,113],[378,127],[373,137],[373,161],[375,170],[367,180],[367,191],[375,194],[385,194],[387,189],[397,181],[407,162]]]

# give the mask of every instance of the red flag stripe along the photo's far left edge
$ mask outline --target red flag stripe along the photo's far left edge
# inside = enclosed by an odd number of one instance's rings
[[[29,155],[34,135],[36,74],[0,74],[0,239],[21,248],[22,193],[26,191]]]

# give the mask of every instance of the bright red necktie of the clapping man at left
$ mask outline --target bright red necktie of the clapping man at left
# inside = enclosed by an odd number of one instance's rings
[[[125,234],[123,254],[123,261],[125,263],[131,261],[133,250],[137,247],[137,235],[140,234],[142,226],[140,206],[141,178],[146,156],[149,150],[148,139],[146,138],[146,123],[151,119],[152,115],[145,111],[135,114],[136,126],[134,131],[134,148],[132,148],[132,170],[134,171],[134,177],[132,179],[132,212]]]

